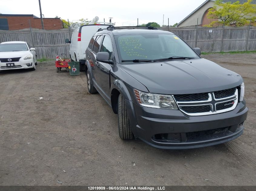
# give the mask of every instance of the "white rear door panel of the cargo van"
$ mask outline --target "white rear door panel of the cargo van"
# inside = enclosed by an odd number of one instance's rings
[[[91,40],[91,37],[97,32],[97,30],[102,28],[99,25],[93,25],[93,26],[85,26],[82,27],[81,30],[81,43],[80,46],[78,46],[79,50],[79,59],[86,59],[85,50],[88,47],[88,44]]]

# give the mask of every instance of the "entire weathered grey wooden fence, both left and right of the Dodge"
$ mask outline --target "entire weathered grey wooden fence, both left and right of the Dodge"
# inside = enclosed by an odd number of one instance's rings
[[[161,27],[161,30],[168,30]],[[184,39],[191,47],[202,52],[229,52],[256,50],[256,27],[189,27],[169,28]],[[58,54],[69,55],[69,38],[72,31],[27,29],[19,31],[0,30],[0,43],[6,41],[27,41],[36,48],[38,58],[55,58]]]

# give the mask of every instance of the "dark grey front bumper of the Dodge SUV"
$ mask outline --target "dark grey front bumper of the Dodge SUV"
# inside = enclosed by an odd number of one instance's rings
[[[134,135],[162,149],[188,149],[217,145],[243,133],[248,108],[245,101],[226,113],[187,116],[180,110],[142,107],[126,100]]]

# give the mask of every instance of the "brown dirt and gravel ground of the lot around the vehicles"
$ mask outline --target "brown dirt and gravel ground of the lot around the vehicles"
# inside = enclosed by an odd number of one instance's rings
[[[0,185],[256,185],[256,54],[202,57],[242,75],[249,113],[239,138],[190,150],[121,140],[84,72],[0,72]]]

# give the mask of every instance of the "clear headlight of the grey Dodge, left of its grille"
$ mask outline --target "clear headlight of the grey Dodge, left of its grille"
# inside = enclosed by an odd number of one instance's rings
[[[150,94],[134,89],[135,97],[141,106],[178,110],[178,107],[170,95]]]

